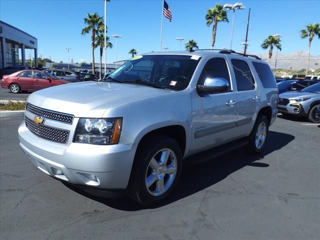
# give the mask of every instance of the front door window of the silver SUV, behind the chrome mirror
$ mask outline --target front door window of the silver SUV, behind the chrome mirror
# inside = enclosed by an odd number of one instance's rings
[[[215,57],[208,60],[202,70],[198,84],[202,85],[206,78],[213,77],[224,78],[229,82],[228,90],[231,89],[229,71],[224,58]]]

